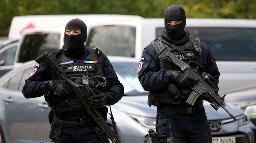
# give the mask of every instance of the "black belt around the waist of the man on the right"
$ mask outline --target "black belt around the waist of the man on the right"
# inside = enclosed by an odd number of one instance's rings
[[[179,114],[191,114],[203,108],[203,101],[201,100],[198,104],[192,107],[171,107],[171,106],[157,106],[158,111],[165,111],[168,113],[179,113]]]

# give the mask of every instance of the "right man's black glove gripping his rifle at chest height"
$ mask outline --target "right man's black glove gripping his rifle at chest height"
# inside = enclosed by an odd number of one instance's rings
[[[179,85],[189,85],[190,82],[193,82],[195,84],[198,83],[195,79],[185,75],[181,71],[175,71],[173,74],[173,78],[174,78],[174,81]]]

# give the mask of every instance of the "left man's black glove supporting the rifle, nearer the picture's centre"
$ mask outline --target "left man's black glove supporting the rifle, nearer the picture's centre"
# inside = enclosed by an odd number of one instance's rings
[[[88,98],[88,103],[92,105],[94,108],[104,107],[108,100],[108,95],[97,89],[92,90],[95,93],[95,95],[92,95],[90,96],[90,98]]]

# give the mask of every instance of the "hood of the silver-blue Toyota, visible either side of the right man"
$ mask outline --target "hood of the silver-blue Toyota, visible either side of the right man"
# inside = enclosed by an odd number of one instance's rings
[[[117,110],[127,114],[139,115],[144,117],[156,117],[156,106],[149,107],[147,104],[148,96],[123,96],[122,99],[115,104]],[[211,107],[209,102],[204,101],[204,108],[208,120],[228,119],[230,116],[221,107],[216,111]],[[243,115],[244,112],[232,103],[226,103],[225,107],[235,117]]]

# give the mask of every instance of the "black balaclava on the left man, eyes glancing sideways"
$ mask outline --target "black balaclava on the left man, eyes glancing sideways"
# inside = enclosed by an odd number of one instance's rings
[[[71,19],[67,22],[65,30],[66,29],[79,29],[81,30],[81,34],[67,35],[66,32],[64,32],[63,53],[70,57],[80,56],[84,53],[84,42],[87,38],[86,24],[78,18]]]

